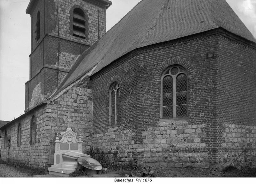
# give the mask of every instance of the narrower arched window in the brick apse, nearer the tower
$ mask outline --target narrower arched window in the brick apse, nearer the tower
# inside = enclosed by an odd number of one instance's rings
[[[109,121],[110,125],[116,125],[120,123],[120,95],[119,85],[114,82],[110,86],[109,90]]]

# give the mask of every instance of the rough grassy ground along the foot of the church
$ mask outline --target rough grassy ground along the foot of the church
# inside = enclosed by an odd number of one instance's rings
[[[0,177],[54,177],[42,170],[25,168],[13,164],[0,163]],[[76,175],[72,177],[88,177]],[[90,177],[90,176],[89,176]],[[97,177],[97,176],[96,176]],[[227,167],[222,171],[213,169],[171,168],[169,170],[152,170],[150,168],[131,170],[108,170],[98,177],[256,177],[256,168]]]

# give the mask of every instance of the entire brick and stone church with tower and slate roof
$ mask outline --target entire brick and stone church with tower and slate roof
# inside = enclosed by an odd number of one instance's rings
[[[68,124],[114,164],[256,166],[256,39],[225,0],[30,0],[25,113],[1,160],[45,167]]]

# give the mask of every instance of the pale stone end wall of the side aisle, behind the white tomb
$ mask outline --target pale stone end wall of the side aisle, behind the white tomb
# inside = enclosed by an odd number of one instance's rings
[[[45,126],[51,138],[55,132],[65,132],[70,127],[78,135],[81,134],[83,152],[92,145],[92,89],[73,87],[58,99],[48,104]]]

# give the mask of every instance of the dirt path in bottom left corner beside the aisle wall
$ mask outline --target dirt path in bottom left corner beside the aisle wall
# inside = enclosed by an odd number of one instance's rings
[[[0,164],[0,177],[31,177],[31,174],[9,164]]]

